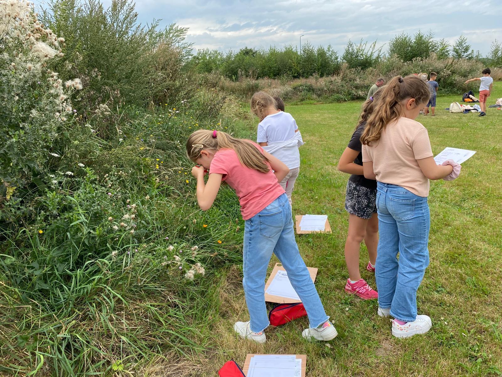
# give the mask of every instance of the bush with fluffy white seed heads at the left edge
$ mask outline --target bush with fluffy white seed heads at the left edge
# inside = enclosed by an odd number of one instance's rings
[[[29,6],[2,1],[0,19],[5,22],[0,31],[5,41],[0,55],[0,219],[14,222],[29,211],[23,203],[37,195],[50,167],[59,164],[76,112],[69,97],[82,84],[78,79],[64,83],[46,68],[61,56],[64,39],[44,29]]]

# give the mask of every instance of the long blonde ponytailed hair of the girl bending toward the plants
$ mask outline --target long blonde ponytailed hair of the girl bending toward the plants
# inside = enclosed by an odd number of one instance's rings
[[[262,173],[267,173],[270,170],[267,158],[251,141],[234,138],[226,132],[197,130],[188,137],[186,148],[187,157],[194,162],[200,157],[200,152],[203,149],[217,151],[228,148],[235,151],[242,165]]]

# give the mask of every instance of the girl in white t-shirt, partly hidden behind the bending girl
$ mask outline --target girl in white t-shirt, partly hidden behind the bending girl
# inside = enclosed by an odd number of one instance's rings
[[[300,172],[298,147],[303,145],[296,121],[291,114],[277,110],[274,98],[264,91],[256,92],[251,98],[251,111],[260,119],[257,142],[289,168],[280,184],[291,204],[291,194]]]

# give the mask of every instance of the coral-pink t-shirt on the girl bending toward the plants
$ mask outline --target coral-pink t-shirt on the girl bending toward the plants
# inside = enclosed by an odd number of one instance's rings
[[[263,153],[262,147],[253,145]],[[252,218],[285,193],[272,168],[267,173],[250,169],[240,163],[233,149],[220,149],[214,154],[209,168],[211,173],[223,174],[222,180],[235,190],[244,220]]]

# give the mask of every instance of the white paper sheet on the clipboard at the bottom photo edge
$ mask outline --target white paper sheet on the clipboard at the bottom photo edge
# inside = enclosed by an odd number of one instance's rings
[[[302,359],[295,355],[256,355],[249,361],[247,377],[301,377]]]

